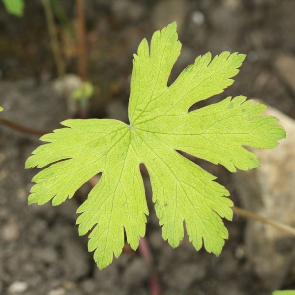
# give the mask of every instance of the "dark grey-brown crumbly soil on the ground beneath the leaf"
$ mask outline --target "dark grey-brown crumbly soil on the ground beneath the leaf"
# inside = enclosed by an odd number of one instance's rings
[[[26,127],[53,130],[69,116],[68,106],[51,83],[55,67],[42,7],[36,0],[27,2],[22,19],[0,9],[0,105],[5,109],[1,117]],[[60,3],[75,27],[73,5]],[[167,5],[170,14],[165,11]],[[245,95],[259,97],[295,117],[294,92],[274,67],[278,56],[295,54],[295,1],[87,0],[85,9],[89,79],[95,87],[89,117],[127,120],[122,113],[127,114],[132,53],[143,37],[150,39],[160,28],[156,26],[171,18],[178,21],[183,44],[171,81],[207,51],[248,54],[229,89],[194,107],[228,95]],[[60,35],[65,30],[60,27]],[[62,40],[67,72],[75,73],[73,40]],[[24,162],[39,144],[37,137],[0,126],[0,294],[145,295],[152,271],[158,275],[163,295],[269,295],[275,287],[276,282],[266,286],[253,272],[245,255],[245,221],[239,217],[226,222],[230,238],[218,258],[204,249],[196,252],[187,238],[172,249],[161,238],[145,174],[150,210],[146,237],[154,262],[148,264],[139,253],[125,251],[99,271],[92,253],[87,252],[87,237],[79,237],[75,225],[76,209],[91,189],[89,184],[58,207],[27,206],[30,181],[38,169],[24,170]],[[216,175],[239,205],[231,174],[205,161],[196,162]],[[294,277],[286,281],[279,287],[295,287]]]

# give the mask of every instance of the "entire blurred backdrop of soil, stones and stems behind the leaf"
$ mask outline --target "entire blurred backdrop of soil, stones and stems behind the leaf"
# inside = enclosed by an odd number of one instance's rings
[[[126,244],[120,258],[99,271],[87,236],[79,237],[75,225],[91,183],[58,207],[28,207],[37,169],[24,170],[40,144],[34,132],[50,132],[68,118],[127,122],[132,54],[144,37],[176,21],[182,51],[170,81],[208,51],[247,54],[236,82],[194,107],[229,95],[257,98],[273,107],[269,112],[290,135],[280,148],[259,151],[262,167],[254,172],[231,174],[194,161],[218,177],[237,206],[294,226],[295,1],[27,0],[15,6],[19,1],[0,1],[0,294],[269,295],[295,289],[294,237],[258,222],[238,216],[226,222],[230,238],[218,258],[196,252],[187,237],[173,250],[161,237],[144,171],[151,258]]]

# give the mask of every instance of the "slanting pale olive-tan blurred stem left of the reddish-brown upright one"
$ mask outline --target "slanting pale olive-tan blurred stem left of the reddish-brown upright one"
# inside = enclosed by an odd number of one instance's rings
[[[55,61],[55,66],[58,73],[58,78],[63,78],[65,75],[65,63],[63,61],[63,57],[60,50],[60,45],[58,42],[58,36],[57,31],[54,23],[54,17],[53,12],[50,5],[50,0],[41,0],[45,17],[46,17],[46,23],[47,28],[50,36],[50,43],[51,43],[51,49]]]

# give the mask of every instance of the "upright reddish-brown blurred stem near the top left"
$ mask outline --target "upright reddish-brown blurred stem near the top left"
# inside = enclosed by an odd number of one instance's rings
[[[78,14],[78,66],[79,75],[83,81],[87,80],[87,59],[85,40],[85,15],[83,0],[76,0]]]

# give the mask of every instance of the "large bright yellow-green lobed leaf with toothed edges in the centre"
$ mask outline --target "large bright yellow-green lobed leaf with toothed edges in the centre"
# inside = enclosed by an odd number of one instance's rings
[[[66,120],[67,128],[41,137],[26,168],[44,168],[34,178],[29,203],[58,205],[91,177],[99,183],[78,208],[79,234],[89,235],[89,251],[99,268],[122,252],[124,230],[132,249],[145,235],[148,207],[140,174],[148,170],[162,235],[172,247],[183,239],[184,224],[196,250],[204,244],[219,255],[228,238],[222,218],[232,219],[229,192],[178,151],[224,165],[230,171],[258,167],[244,148],[274,148],[285,137],[277,119],[259,116],[265,106],[230,97],[193,112],[189,107],[233,83],[245,55],[224,52],[196,58],[167,87],[181,50],[176,23],[142,40],[134,55],[129,102],[130,125],[117,120]]]

